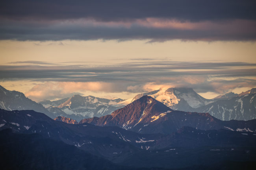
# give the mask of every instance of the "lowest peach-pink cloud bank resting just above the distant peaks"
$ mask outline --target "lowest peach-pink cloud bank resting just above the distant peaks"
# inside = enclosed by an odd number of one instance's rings
[[[166,82],[167,80],[169,82]],[[256,79],[217,79],[209,81],[206,77],[173,77],[137,85],[123,82],[45,82],[33,86],[25,95],[34,101],[61,99],[71,97],[74,94],[96,95],[96,97],[108,96],[109,99],[113,97],[126,99],[134,97],[138,93],[171,87],[193,88],[198,93],[224,94],[237,88],[254,88],[256,87]]]

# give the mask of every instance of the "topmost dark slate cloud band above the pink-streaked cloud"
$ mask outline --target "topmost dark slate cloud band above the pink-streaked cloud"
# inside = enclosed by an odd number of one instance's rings
[[[256,19],[254,0],[4,0],[0,4],[0,17],[12,19]]]

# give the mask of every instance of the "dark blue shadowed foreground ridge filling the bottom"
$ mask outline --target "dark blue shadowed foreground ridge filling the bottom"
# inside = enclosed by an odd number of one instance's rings
[[[148,104],[154,102],[156,101]],[[152,104],[152,109],[154,105],[160,106],[156,102]],[[193,122],[195,119],[198,117],[188,117],[187,121]],[[233,123],[233,128],[250,124],[249,121]],[[255,126],[255,122],[253,124]],[[32,110],[0,110],[0,136],[3,139],[0,141],[0,148],[8,158],[4,167],[10,166],[8,160],[18,159],[13,155],[17,155],[19,147],[24,148],[19,154],[24,157],[18,162],[25,162],[32,167],[70,167],[75,159],[79,166],[75,165],[74,169],[85,166],[81,165],[82,160],[87,162],[87,169],[102,169],[95,165],[96,162],[102,163],[104,169],[210,169],[216,168],[217,165],[227,165],[228,161],[251,165],[248,161],[255,161],[256,133],[245,132],[246,130],[248,131],[248,128],[241,130],[243,132],[232,131],[231,128],[199,130],[183,126],[170,134],[141,134],[117,126],[100,127],[88,123],[68,124],[54,121],[45,114]],[[45,156],[39,157],[34,155],[34,152]],[[69,157],[70,154],[73,157]],[[31,156],[33,157],[30,158]],[[36,161],[37,159],[41,161]],[[70,161],[70,165],[56,165],[61,159]],[[33,161],[38,164],[35,165]],[[42,165],[43,163],[45,165]],[[15,165],[16,162],[13,166]]]

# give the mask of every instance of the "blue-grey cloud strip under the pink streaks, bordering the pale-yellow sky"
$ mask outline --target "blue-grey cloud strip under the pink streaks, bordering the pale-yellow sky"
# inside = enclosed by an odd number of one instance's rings
[[[241,23],[243,24],[243,23]],[[239,24],[239,25],[241,25]],[[156,28],[144,26],[131,27],[108,27],[108,26],[76,26],[72,25],[31,25],[7,23],[0,24],[0,40],[132,40],[151,39],[152,41],[165,40],[239,40],[250,41],[256,39],[255,23],[248,26],[237,27],[226,24],[219,29],[209,27],[208,29],[174,29]],[[234,28],[236,27],[236,28]]]

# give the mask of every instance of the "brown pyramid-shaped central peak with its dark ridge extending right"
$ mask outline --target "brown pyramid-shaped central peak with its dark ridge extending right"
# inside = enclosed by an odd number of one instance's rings
[[[111,115],[83,119],[79,123],[84,122],[97,126],[119,126],[137,133],[170,134],[183,126],[200,130],[225,128],[256,132],[256,120],[221,121],[209,113],[174,111],[150,96],[143,96]]]

